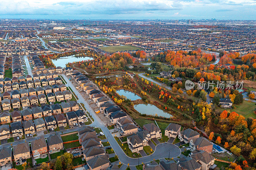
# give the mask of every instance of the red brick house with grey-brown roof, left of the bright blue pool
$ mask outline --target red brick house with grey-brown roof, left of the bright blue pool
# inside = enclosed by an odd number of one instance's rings
[[[198,137],[195,142],[193,142],[193,140],[190,141],[189,147],[192,151],[202,150],[208,153],[212,153],[213,144],[204,137]]]

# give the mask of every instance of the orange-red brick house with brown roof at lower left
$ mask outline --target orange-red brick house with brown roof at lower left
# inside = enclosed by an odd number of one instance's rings
[[[34,156],[34,159],[40,158],[41,154],[47,153],[47,144],[44,137],[36,139],[31,142],[31,150]]]

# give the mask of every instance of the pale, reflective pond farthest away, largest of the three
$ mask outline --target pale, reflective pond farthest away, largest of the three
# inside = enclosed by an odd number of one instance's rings
[[[78,61],[83,61],[83,60],[93,60],[93,57],[75,57],[75,55],[69,55],[65,57],[60,57],[58,59],[52,59],[52,63],[58,67],[66,67],[67,63],[72,63],[72,62],[78,62]]]

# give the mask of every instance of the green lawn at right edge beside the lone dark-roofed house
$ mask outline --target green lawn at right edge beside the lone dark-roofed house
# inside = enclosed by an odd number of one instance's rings
[[[230,112],[236,112],[239,115],[243,115],[245,119],[248,117],[256,118],[256,115],[253,113],[254,108],[256,107],[254,102],[244,100],[242,104],[235,105],[235,107],[236,109],[230,109]],[[218,107],[218,110],[222,112],[223,110],[228,109]]]

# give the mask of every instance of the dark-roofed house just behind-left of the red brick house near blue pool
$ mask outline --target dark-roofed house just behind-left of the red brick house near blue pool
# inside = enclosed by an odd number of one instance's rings
[[[194,143],[198,137],[200,137],[200,134],[192,129],[182,130],[178,135],[180,141],[184,141],[186,144],[190,143],[191,140],[193,140]]]

